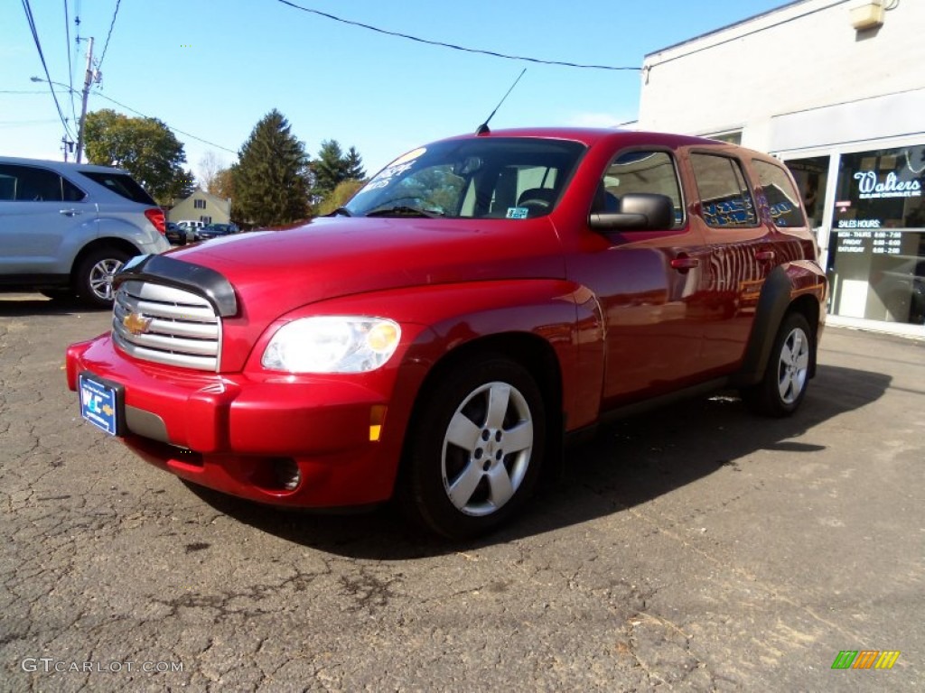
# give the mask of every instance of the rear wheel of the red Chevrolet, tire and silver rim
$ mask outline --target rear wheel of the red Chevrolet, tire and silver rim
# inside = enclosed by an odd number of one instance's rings
[[[746,406],[765,416],[793,414],[807,393],[815,357],[815,339],[807,319],[800,313],[788,313],[774,337],[761,382],[742,390]]]

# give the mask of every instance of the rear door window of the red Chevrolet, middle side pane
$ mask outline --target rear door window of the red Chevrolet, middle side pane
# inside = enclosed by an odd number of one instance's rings
[[[758,225],[742,165],[728,156],[691,154],[704,221],[719,228]]]

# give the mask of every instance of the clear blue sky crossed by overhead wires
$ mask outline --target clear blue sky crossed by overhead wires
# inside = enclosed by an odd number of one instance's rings
[[[26,2],[0,2],[0,65],[4,66],[0,153],[61,160],[64,126],[55,102],[46,82],[31,81],[31,77],[44,79],[44,70],[26,18]],[[638,68],[649,53],[787,4],[786,0],[28,3],[52,81],[82,89],[86,39],[93,37],[94,63],[102,81],[90,92],[88,111],[112,108],[128,116],[158,118],[174,129],[184,145],[187,166],[197,176],[210,154],[218,164],[234,163],[253,127],[274,108],[286,116],[292,134],[302,140],[310,156],[317,154],[322,141],[337,140],[345,151],[355,147],[372,175],[420,144],[474,131],[524,67],[523,78],[492,119],[492,129],[613,127],[637,116],[638,69],[561,67],[469,53],[385,35],[292,5],[466,48]],[[78,35],[80,43],[75,41]],[[56,87],[56,92],[76,140],[80,94],[72,102],[68,89]]]

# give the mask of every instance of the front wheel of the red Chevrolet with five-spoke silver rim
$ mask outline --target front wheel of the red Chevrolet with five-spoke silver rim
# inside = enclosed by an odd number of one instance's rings
[[[533,377],[510,359],[469,361],[419,402],[399,487],[401,509],[450,539],[498,527],[529,498],[546,450]]]

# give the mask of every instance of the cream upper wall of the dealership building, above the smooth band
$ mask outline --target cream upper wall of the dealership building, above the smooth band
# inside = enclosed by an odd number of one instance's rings
[[[858,0],[803,0],[646,56],[639,128],[742,129],[771,149],[774,116],[925,88],[925,2],[884,0],[879,29],[857,31]]]

